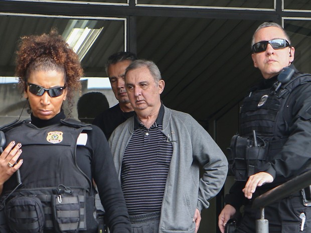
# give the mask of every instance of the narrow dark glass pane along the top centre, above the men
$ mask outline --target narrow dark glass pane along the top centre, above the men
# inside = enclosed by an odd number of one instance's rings
[[[137,4],[146,5],[175,5],[196,7],[228,7],[228,8],[265,8],[273,9],[273,0],[244,1],[244,0],[137,0]]]

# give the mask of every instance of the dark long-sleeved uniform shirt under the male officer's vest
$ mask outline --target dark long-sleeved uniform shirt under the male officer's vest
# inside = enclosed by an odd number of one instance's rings
[[[292,68],[293,65],[291,66]],[[297,75],[297,74],[296,74]],[[311,75],[310,75],[311,76]],[[272,87],[276,77],[263,80],[259,89]],[[289,95],[284,105],[283,114],[277,123],[276,134],[279,138],[288,137],[284,146],[275,159],[266,163],[262,169],[271,174],[275,180],[278,178],[290,179],[302,173],[306,166],[311,163],[311,82],[305,82],[297,86]],[[288,136],[289,135],[289,136]],[[243,205],[246,200],[242,189],[246,182],[236,181],[230,188],[229,194],[225,196],[226,204],[231,204],[236,209]],[[259,189],[270,189],[279,183],[264,184]]]

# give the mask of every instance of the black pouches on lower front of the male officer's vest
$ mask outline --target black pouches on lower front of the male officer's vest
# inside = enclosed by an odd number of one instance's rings
[[[234,135],[231,139],[229,171],[237,181],[246,181],[249,176],[267,161],[268,141],[254,135],[253,138]]]

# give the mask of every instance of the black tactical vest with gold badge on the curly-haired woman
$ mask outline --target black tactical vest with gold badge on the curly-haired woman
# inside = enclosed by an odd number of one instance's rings
[[[11,232],[86,230],[86,217],[94,210],[86,205],[93,203],[94,197],[91,180],[76,164],[76,143],[81,132],[91,127],[62,120],[37,128],[26,121],[3,130],[7,143],[22,144],[20,159],[24,163],[20,168],[22,184],[14,190],[18,185],[15,175],[4,184],[0,208],[5,210],[7,224],[0,225],[0,232],[7,232],[8,225]]]

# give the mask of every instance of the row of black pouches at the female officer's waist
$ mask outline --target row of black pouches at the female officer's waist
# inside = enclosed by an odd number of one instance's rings
[[[86,230],[86,191],[79,187],[19,189],[0,200],[1,233]]]

